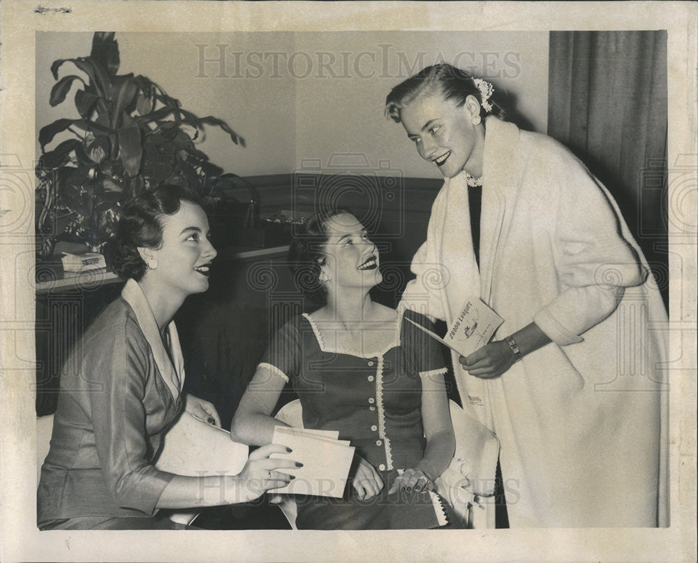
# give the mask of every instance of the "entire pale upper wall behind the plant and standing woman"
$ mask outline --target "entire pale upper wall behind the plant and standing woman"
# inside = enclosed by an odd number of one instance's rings
[[[315,161],[341,171],[378,167],[380,175],[439,177],[401,126],[383,117],[383,102],[403,78],[440,60],[490,78],[510,95],[524,126],[547,129],[547,32],[119,32],[116,38],[119,73],[148,76],[184,108],[221,117],[245,138],[246,147],[239,147],[209,127],[200,145],[211,161],[239,175],[289,173]],[[86,57],[90,48],[91,33],[36,34],[37,131],[59,117],[77,117],[73,94],[49,107],[50,66]],[[75,68],[66,64],[60,73]]]

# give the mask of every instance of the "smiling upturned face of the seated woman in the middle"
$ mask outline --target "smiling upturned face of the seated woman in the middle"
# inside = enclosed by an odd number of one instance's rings
[[[349,213],[327,220],[327,243],[322,275],[331,278],[330,286],[370,289],[383,281],[378,270],[378,250],[369,240],[361,222]]]

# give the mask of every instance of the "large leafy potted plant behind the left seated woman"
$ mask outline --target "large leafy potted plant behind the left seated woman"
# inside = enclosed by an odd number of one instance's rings
[[[70,64],[82,75],[59,80]],[[84,244],[100,252],[114,232],[126,200],[160,184],[180,184],[209,203],[223,170],[209,162],[194,141],[206,125],[218,126],[232,142],[244,140],[216,117],[197,117],[179,100],[142,75],[117,74],[119,46],[114,33],[94,34],[89,57],[59,59],[51,71],[56,84],[50,104],[66,101],[77,82],[73,102],[79,117],[57,119],[39,132],[36,166],[38,256],[52,253],[57,240]],[[57,142],[59,134],[69,138]],[[52,149],[47,150],[49,145]],[[228,176],[228,175],[226,175]]]

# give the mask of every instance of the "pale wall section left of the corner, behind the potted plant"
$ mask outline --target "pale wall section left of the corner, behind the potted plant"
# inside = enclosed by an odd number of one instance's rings
[[[295,161],[295,89],[293,82],[263,73],[257,79],[236,78],[235,51],[256,52],[264,45],[272,52],[292,51],[292,34],[154,34],[117,33],[121,66],[119,74],[144,75],[181,101],[182,107],[199,117],[224,119],[244,137],[246,146],[209,126],[200,148],[212,162],[239,175],[288,172]],[[50,66],[55,59],[87,57],[92,34],[40,33],[36,36],[36,128],[59,117],[77,117],[74,94],[57,108],[48,100],[54,80]],[[197,45],[202,45],[197,47]],[[223,49],[223,68],[216,61]],[[221,72],[222,70],[222,72]],[[250,69],[248,69],[250,70]],[[251,68],[250,72],[253,72]],[[60,75],[78,73],[64,64]],[[73,86],[73,90],[77,85]],[[67,114],[72,110],[70,115]],[[57,140],[59,140],[57,138]],[[37,147],[38,148],[38,147]]]

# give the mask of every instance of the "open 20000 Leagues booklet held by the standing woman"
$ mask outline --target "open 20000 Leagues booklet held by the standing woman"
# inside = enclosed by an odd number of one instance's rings
[[[415,323],[415,321],[410,319],[408,321],[461,356],[470,356],[475,350],[482,348],[489,342],[494,331],[499,328],[504,319],[480,298],[470,297],[459,309],[459,313],[455,316],[443,338],[436,332]]]

